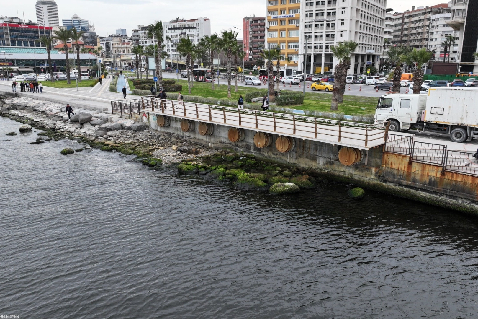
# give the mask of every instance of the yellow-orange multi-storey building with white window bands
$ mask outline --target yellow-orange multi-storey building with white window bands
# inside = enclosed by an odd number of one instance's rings
[[[282,49],[281,68],[301,70],[299,58],[301,2],[300,0],[266,0],[266,47]],[[258,45],[259,46],[259,45]],[[254,48],[252,50],[254,52]],[[257,52],[259,53],[259,52]],[[286,62],[288,57],[291,62]]]

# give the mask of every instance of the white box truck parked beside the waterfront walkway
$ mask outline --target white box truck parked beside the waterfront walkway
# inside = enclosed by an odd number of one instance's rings
[[[427,94],[385,94],[375,122],[390,121],[390,131],[421,129],[446,133],[454,142],[478,137],[478,89],[436,87]]]

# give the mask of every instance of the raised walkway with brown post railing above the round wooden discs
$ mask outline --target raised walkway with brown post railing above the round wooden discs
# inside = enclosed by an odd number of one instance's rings
[[[226,124],[325,143],[369,149],[385,143],[389,122],[362,124],[348,121],[244,110],[218,105],[142,97],[142,110],[196,121]]]

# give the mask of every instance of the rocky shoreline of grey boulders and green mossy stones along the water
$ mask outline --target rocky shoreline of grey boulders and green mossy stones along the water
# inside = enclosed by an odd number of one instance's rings
[[[204,176],[218,182],[233,183],[239,189],[269,191],[274,195],[314,189],[318,183],[330,184],[312,170],[265,162],[252,154],[206,148],[177,136],[150,131],[145,124],[123,119],[117,114],[76,109],[70,120],[64,108],[58,103],[26,97],[3,98],[0,114],[22,122],[19,131],[42,130],[31,144],[65,138],[87,144],[76,150],[65,149],[62,151],[65,155],[88,147],[134,154],[137,161],[154,170],[177,165],[180,174]],[[347,187],[352,188],[352,185]],[[357,199],[364,195],[363,190],[348,193]]]

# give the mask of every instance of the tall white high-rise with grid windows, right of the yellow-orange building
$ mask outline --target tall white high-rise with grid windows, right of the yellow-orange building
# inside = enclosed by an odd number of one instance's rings
[[[306,73],[333,71],[338,60],[331,47],[348,40],[359,44],[351,55],[349,73],[366,73],[372,65],[379,68],[386,7],[386,0],[303,1],[299,47],[306,55]]]

